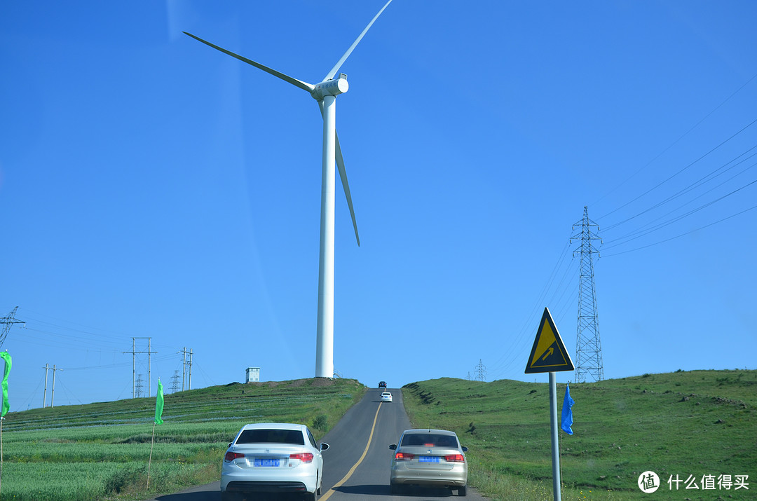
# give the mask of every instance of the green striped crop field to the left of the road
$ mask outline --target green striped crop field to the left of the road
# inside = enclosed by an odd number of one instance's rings
[[[297,422],[322,437],[366,388],[351,379],[232,383],[155,398],[11,412],[2,427],[0,499],[148,499],[217,481],[220,458],[251,422]]]

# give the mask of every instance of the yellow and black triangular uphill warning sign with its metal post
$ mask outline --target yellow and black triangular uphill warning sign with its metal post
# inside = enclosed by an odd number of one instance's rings
[[[525,366],[526,374],[537,372],[550,373],[550,428],[552,431],[552,490],[555,501],[562,501],[560,495],[560,454],[557,436],[557,377],[556,372],[575,369],[565,344],[562,344],[550,310],[544,308],[544,315],[539,322],[531,356]]]

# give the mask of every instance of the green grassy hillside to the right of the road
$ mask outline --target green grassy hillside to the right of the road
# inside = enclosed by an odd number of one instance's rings
[[[565,384],[557,394],[559,419]],[[552,499],[549,384],[443,378],[403,395],[414,425],[454,430],[470,447],[473,487],[494,499]],[[571,396],[562,499],[757,499],[757,371],[645,374],[572,384]],[[637,479],[649,470],[661,486],[645,494]],[[678,491],[668,485],[676,475]],[[686,489],[690,475],[699,489]],[[705,490],[705,475],[751,484]]]

